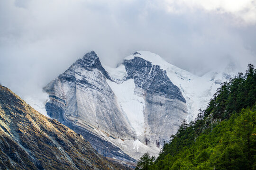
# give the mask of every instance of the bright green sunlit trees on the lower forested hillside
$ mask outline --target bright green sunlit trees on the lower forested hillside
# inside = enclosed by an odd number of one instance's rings
[[[250,170],[256,158],[256,109],[243,109],[192,142],[174,136],[155,161],[156,170]],[[193,133],[191,125],[187,134]],[[184,135],[186,136],[186,135]],[[192,139],[192,138],[191,138]],[[181,146],[179,146],[181,144]]]

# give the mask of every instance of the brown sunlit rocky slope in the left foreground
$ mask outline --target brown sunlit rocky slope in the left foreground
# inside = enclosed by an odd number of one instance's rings
[[[0,169],[117,170],[118,166],[81,135],[0,85]]]

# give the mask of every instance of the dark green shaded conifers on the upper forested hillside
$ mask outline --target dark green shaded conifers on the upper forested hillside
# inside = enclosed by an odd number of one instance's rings
[[[246,74],[238,73],[229,82],[224,82],[210,100],[205,116],[212,115],[214,119],[229,119],[233,112],[242,108],[252,107],[256,101],[256,69],[248,65]]]

